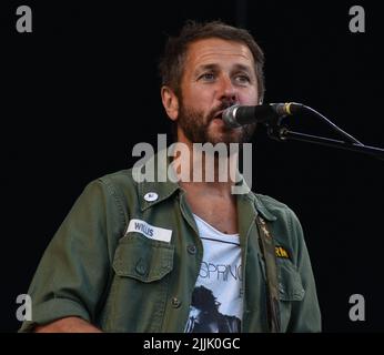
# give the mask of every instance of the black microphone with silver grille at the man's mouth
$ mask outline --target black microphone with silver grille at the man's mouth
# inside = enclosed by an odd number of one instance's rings
[[[301,103],[269,103],[255,106],[235,104],[223,111],[222,119],[230,128],[250,123],[273,123],[286,115],[293,115],[304,108]]]

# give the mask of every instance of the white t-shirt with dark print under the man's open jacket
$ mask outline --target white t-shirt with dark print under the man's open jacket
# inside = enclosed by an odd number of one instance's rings
[[[204,255],[185,332],[240,332],[243,297],[239,234],[224,234],[198,215],[193,216]]]

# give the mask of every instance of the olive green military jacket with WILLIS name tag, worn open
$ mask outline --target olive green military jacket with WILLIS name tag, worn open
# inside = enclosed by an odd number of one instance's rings
[[[275,241],[281,331],[320,332],[315,282],[297,217],[265,195],[249,191],[236,199],[242,332],[269,332],[257,214]],[[151,237],[151,230],[168,239],[171,233],[170,241]],[[183,332],[202,257],[178,183],[138,182],[132,170],[105,175],[85,187],[44,252],[28,292],[32,321],[20,331],[79,316],[105,332]]]

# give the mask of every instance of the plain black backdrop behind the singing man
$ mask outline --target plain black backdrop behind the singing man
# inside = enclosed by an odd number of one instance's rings
[[[21,4],[32,33],[16,30]],[[365,9],[365,33],[348,30],[353,4]],[[186,19],[245,26],[265,51],[266,102],[303,102],[384,146],[383,17],[378,1],[1,1],[0,331],[20,326],[16,297],[85,184],[169,133],[156,74],[166,34]],[[296,119],[295,129],[333,136]],[[324,331],[383,332],[384,161],[263,130],[253,143],[253,189],[304,227]],[[352,294],[365,297],[365,322],[348,318]]]

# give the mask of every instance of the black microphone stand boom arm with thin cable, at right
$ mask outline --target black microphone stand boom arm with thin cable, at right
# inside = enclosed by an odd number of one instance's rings
[[[313,110],[310,106],[303,105],[302,109],[304,112],[314,114],[315,116],[325,121],[325,123],[329,124],[333,130],[344,135],[346,141],[338,141],[338,140],[333,140],[333,139],[329,139],[324,136],[317,136],[317,135],[311,135],[311,134],[305,134],[301,132],[290,131],[286,126],[281,124],[282,119],[284,116],[280,116],[272,123],[267,124],[269,136],[280,142],[284,142],[287,140],[309,142],[309,143],[364,153],[364,154],[373,155],[380,160],[384,160],[384,149],[363,144],[362,142],[353,138],[351,134],[344,132],[333,122],[331,122],[329,119],[326,119],[323,114],[319,113],[317,111]]]

